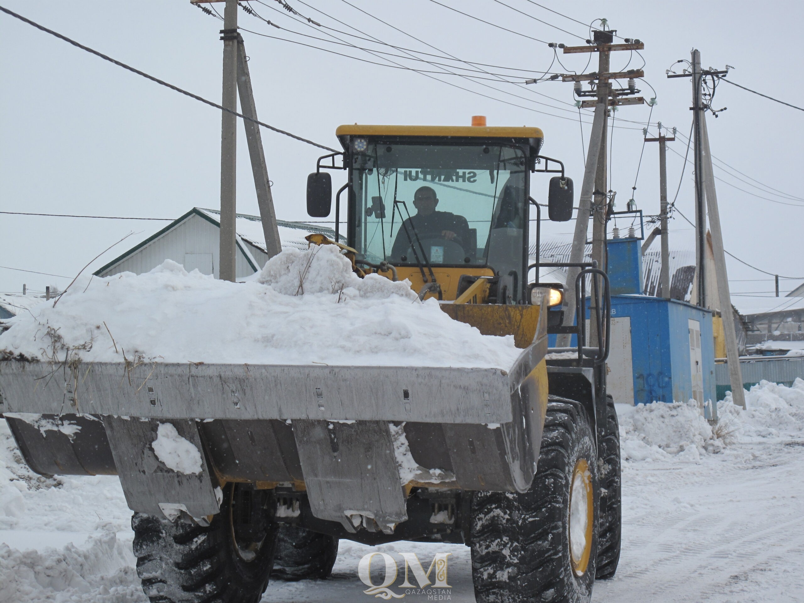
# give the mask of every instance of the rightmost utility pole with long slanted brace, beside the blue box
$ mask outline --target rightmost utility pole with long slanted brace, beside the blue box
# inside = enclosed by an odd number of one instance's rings
[[[745,390],[743,389],[743,376],[740,368],[740,353],[737,349],[737,334],[734,330],[734,317],[732,313],[732,297],[728,289],[728,272],[726,270],[726,254],[723,247],[723,232],[720,229],[720,209],[717,205],[715,190],[715,174],[712,171],[712,154],[709,150],[709,135],[706,125],[706,112],[712,109],[704,103],[703,80],[706,76],[725,75],[726,71],[701,69],[700,52],[693,49],[691,72],[673,73],[667,77],[692,78],[692,111],[693,129],[695,132],[695,230],[696,260],[698,280],[698,305],[708,307],[708,300],[704,289],[706,279],[712,277],[704,271],[706,252],[706,214],[709,211],[709,231],[712,234],[712,255],[714,256],[714,277],[717,285],[717,297],[720,301],[720,316],[723,320],[723,330],[726,338],[726,360],[728,362],[728,376],[732,386],[732,401],[737,406],[745,408]],[[711,98],[709,99],[712,100]],[[704,207],[704,201],[706,206]],[[712,418],[716,418],[717,408],[713,401]]]

